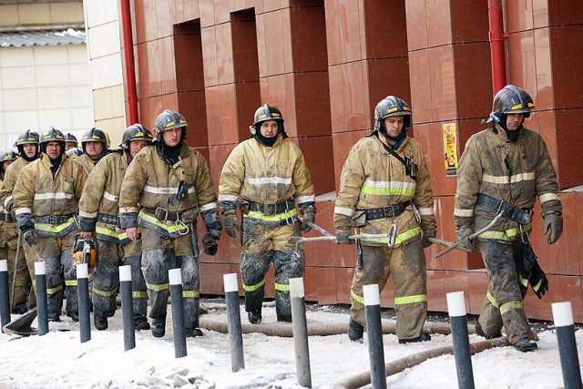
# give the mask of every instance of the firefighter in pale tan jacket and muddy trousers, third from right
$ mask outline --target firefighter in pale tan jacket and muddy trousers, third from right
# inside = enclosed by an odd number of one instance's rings
[[[289,280],[303,276],[305,261],[303,251],[294,251],[291,238],[309,230],[306,221],[315,220],[312,177],[300,148],[286,139],[279,108],[259,107],[250,129],[251,139],[231,151],[220,173],[220,210],[227,234],[235,238],[235,230],[240,230],[240,274],[249,322],[261,322],[265,274],[271,264],[277,320],[292,322]]]

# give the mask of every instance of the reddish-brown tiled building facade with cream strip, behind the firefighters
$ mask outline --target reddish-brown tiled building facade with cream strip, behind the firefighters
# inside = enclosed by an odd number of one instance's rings
[[[348,151],[373,128],[376,103],[396,95],[411,103],[412,133],[429,162],[438,236],[455,240],[456,159],[467,138],[483,128],[493,97],[486,0],[130,4],[140,121],[151,128],[161,110],[179,110],[189,121],[189,144],[210,159],[215,183],[230,150],[249,138],[256,107],[269,102],[281,108],[286,131],[312,171],[317,222],[332,230],[334,190]],[[564,234],[552,247],[536,210],[533,244],[550,291],[542,302],[529,293],[527,314],[550,319],[550,302],[569,300],[582,322],[583,195],[577,186],[583,169],[577,156],[583,146],[583,3],[506,0],[503,8],[506,79],[535,99],[537,112],[526,126],[547,141],[564,205]],[[114,0],[87,0],[86,13],[96,120],[118,126],[120,107],[108,102],[119,101],[124,85],[116,46],[119,8]],[[106,47],[101,39],[117,42]],[[102,47],[98,54],[94,45]],[[354,249],[322,242],[305,250],[306,299],[350,302]],[[445,293],[461,290],[468,312],[478,313],[487,288],[479,254],[455,251],[433,259],[440,250],[434,245],[426,251],[429,309],[445,311]],[[201,292],[222,293],[222,274],[238,271],[239,254],[238,241],[225,237],[216,257],[203,256]],[[392,289],[390,281],[384,306],[393,306]],[[272,282],[267,290],[273,292]]]

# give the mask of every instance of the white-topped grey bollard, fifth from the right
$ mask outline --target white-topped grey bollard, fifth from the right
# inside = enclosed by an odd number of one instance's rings
[[[245,368],[243,335],[240,329],[239,284],[237,274],[223,274],[225,302],[227,302],[227,326],[229,328],[230,370],[235,373]]]

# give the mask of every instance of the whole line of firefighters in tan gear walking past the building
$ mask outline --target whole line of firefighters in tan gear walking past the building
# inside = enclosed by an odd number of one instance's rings
[[[502,336],[504,327],[522,352],[537,348],[523,308],[527,288],[539,298],[548,288],[529,240],[535,200],[543,232],[550,231],[549,244],[558,240],[563,225],[547,146],[537,132],[523,127],[533,109],[532,98],[519,87],[508,85],[496,94],[484,120],[489,127],[465,145],[454,211],[460,246],[474,251],[479,245],[490,278],[476,333],[490,339]],[[434,241],[436,222],[424,151],[407,136],[411,124],[409,105],[385,97],[375,107],[372,133],[353,146],[340,177],[335,238],[338,244],[357,245],[348,325],[352,341],[363,339],[363,285],[376,283],[383,290],[389,276],[399,343],[431,339],[423,332],[424,248]],[[15,142],[17,152],[0,155],[0,244],[11,282],[15,272],[14,313],[35,305],[31,274],[34,262],[45,261],[49,321],[60,321],[65,296],[66,315],[77,322],[76,241],[95,240],[91,295],[97,330],[106,330],[107,318],[116,312],[118,266],[128,264],[137,330],[151,328],[153,336],[164,336],[169,270],[179,268],[186,334],[202,335],[200,215],[206,254],[216,254],[223,226],[240,240],[249,322],[262,320],[271,265],[277,320],[292,321],[289,279],[302,277],[305,268],[294,239],[316,226],[316,201],[310,171],[300,148],[287,139],[281,111],[268,104],[257,109],[251,138],[231,151],[221,170],[218,198],[206,159],[185,143],[187,127],[186,118],[167,109],[156,118],[153,133],[141,124],[129,126],[119,149],[110,149],[107,134],[97,128],[83,136],[81,150],[77,139],[49,128],[40,136],[27,130]]]

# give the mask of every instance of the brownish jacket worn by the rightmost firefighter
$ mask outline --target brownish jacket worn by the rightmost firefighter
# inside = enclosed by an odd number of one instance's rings
[[[521,129],[516,142],[506,137],[498,124],[473,135],[465,144],[457,173],[455,225],[481,230],[496,216],[496,210],[477,205],[478,194],[523,210],[532,210],[538,197],[543,214],[561,213],[557,175],[547,145],[535,131]],[[512,241],[531,223],[519,225],[502,217],[479,241]]]

